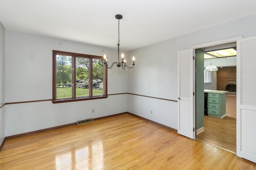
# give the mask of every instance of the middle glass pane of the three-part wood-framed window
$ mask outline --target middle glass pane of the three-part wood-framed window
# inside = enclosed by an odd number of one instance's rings
[[[89,96],[89,59],[76,57],[76,97]]]

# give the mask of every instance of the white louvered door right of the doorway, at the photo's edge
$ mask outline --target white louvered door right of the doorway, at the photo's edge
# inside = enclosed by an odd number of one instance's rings
[[[256,162],[256,37],[237,41],[236,154]]]

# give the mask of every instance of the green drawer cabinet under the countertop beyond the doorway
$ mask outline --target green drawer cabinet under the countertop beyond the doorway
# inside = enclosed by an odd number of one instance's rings
[[[226,116],[226,94],[208,93],[208,116]]]

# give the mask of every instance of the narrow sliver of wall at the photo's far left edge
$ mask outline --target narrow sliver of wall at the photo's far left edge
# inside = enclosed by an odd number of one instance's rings
[[[5,29],[0,22],[0,107],[5,104]],[[0,109],[0,145],[5,137],[5,106]]]

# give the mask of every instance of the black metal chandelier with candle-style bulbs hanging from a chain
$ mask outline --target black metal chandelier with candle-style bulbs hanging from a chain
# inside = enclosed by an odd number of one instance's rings
[[[119,31],[119,29],[120,29],[120,20],[123,18],[123,16],[122,15],[116,15],[116,19],[118,19],[118,41],[117,41],[117,47],[118,47],[118,63],[117,62],[114,62],[114,63],[112,63],[110,66],[108,66],[108,57],[106,57],[106,54],[104,54],[104,65],[108,68],[108,69],[110,69],[110,68],[112,68],[113,66],[114,66],[114,64],[116,64],[116,66],[118,66],[118,67],[122,67],[123,69],[125,69],[126,67],[127,68],[133,68],[134,67],[134,61],[135,61],[135,58],[134,58],[134,56],[132,57],[132,61],[133,61],[133,63],[132,63],[132,67],[129,67],[127,64],[126,64],[126,59],[124,59],[124,53],[122,53],[122,55],[121,55],[121,57],[122,57],[122,61],[120,62],[120,57],[119,57],[119,45],[120,45],[120,31]]]

